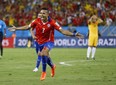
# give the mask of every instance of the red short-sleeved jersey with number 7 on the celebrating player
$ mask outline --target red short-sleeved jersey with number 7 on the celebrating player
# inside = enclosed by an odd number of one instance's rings
[[[45,42],[51,41],[54,42],[54,30],[61,29],[61,27],[50,18],[48,22],[43,23],[41,18],[37,18],[34,20],[30,26],[35,29],[35,36],[37,37],[36,41],[39,44],[43,44]]]

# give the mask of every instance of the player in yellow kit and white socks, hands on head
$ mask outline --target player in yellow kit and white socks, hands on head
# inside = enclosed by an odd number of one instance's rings
[[[91,58],[95,60],[95,52],[99,35],[98,24],[102,22],[103,20],[98,18],[96,15],[93,15],[88,20],[89,38],[88,38],[87,59],[90,58],[90,54],[92,53]]]

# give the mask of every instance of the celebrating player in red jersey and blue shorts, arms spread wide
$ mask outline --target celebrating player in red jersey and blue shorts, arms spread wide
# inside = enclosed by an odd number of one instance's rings
[[[38,58],[42,58],[42,74],[40,80],[44,80],[46,78],[46,63],[51,66],[51,76],[53,77],[55,75],[55,65],[49,57],[49,52],[54,47],[54,30],[71,37],[83,38],[83,35],[63,30],[61,26],[49,16],[49,10],[47,8],[42,8],[39,14],[41,14],[41,17],[35,19],[30,25],[13,28],[16,30],[30,29],[33,39],[37,42],[36,49],[39,50]],[[33,30],[35,30],[35,33]]]

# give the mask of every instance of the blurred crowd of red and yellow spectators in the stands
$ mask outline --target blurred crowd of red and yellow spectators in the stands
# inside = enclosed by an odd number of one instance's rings
[[[116,0],[0,0],[0,16],[7,26],[23,26],[34,20],[41,7],[62,26],[86,26],[91,14],[105,22],[116,20]]]

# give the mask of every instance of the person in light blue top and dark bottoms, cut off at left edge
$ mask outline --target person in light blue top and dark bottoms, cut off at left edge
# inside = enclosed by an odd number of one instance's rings
[[[3,20],[0,19],[0,58],[3,56],[3,46],[2,46],[2,41],[3,38],[6,37],[6,24]]]

